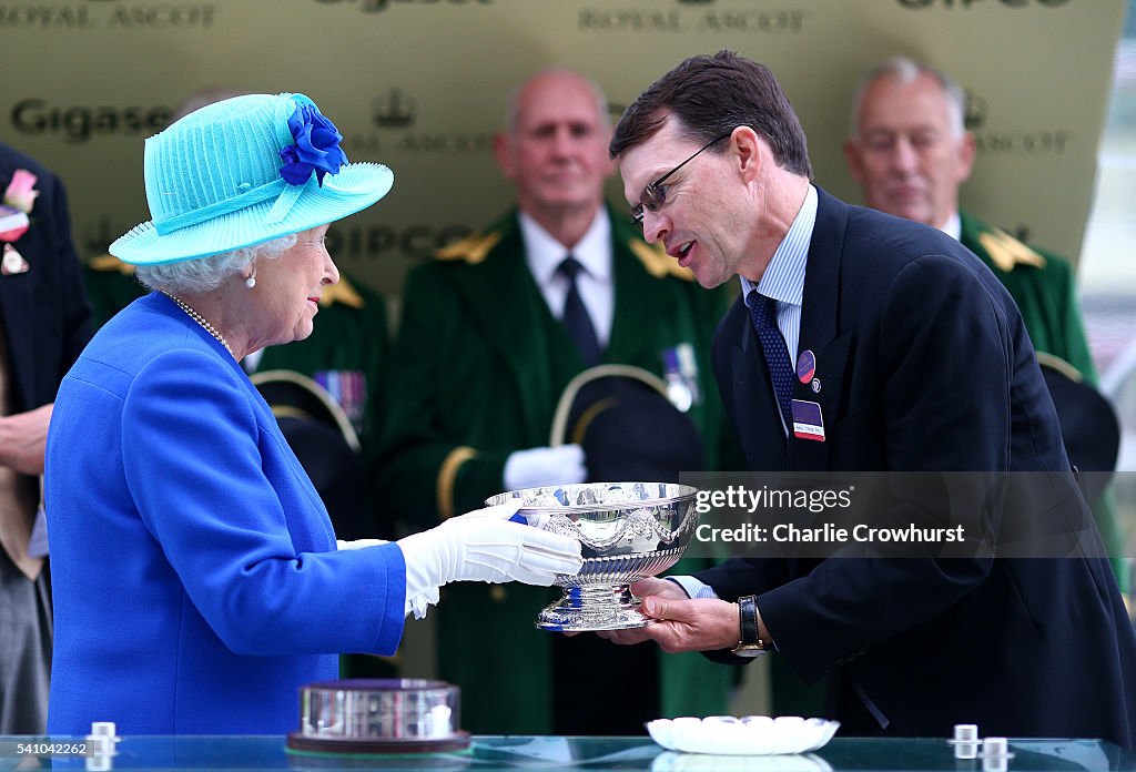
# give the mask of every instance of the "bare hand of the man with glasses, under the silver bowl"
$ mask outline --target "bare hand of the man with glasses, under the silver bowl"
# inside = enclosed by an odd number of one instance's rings
[[[645,581],[645,580],[644,580]],[[598,632],[617,644],[638,644],[653,640],[669,653],[711,652],[732,648],[738,639],[737,604],[717,598],[691,599],[683,588],[673,581],[654,579],[653,582],[670,585],[674,590],[660,588],[665,594],[643,597],[641,610],[657,620],[654,624],[635,630],[604,630]],[[636,582],[632,591],[638,595]],[[652,588],[653,589],[653,588]],[[675,594],[677,590],[677,595]]]

